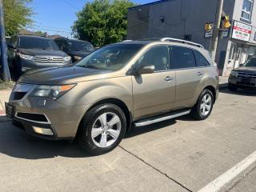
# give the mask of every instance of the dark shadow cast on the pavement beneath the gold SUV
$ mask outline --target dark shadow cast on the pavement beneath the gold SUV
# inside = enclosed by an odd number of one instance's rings
[[[12,126],[11,122],[6,119],[6,117],[0,117],[0,153],[2,154],[25,159],[54,158],[58,156],[67,158],[91,157],[76,142],[70,144],[67,141],[48,141],[40,138],[31,139],[26,135],[24,130],[19,130]],[[134,127],[126,134],[125,139],[162,129],[174,123],[174,120],[170,120],[150,126]]]

